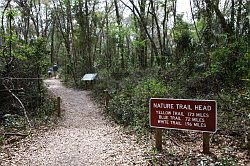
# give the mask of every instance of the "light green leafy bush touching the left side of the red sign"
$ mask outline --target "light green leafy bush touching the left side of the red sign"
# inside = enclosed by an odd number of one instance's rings
[[[116,122],[142,131],[149,128],[149,99],[164,97],[167,89],[161,81],[154,78],[144,78],[139,82],[134,80],[133,84],[131,82],[131,78],[123,81],[123,89],[114,94],[107,112]]]

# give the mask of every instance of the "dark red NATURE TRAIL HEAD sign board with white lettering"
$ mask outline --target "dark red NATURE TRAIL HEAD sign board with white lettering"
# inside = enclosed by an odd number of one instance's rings
[[[217,104],[214,100],[151,98],[150,126],[154,128],[215,132]]]

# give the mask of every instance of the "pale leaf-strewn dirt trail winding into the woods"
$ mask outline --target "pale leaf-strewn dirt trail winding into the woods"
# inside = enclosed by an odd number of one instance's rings
[[[9,151],[3,166],[146,165],[135,138],[119,131],[90,100],[89,92],[45,80],[62,98],[63,118],[57,127]]]

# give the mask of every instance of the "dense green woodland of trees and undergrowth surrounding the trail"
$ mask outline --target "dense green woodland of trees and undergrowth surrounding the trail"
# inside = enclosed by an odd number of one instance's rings
[[[249,150],[250,2],[187,0],[187,20],[177,1],[1,0],[0,132],[49,121],[54,105],[42,79],[57,63],[76,88],[97,73],[93,97],[108,98],[106,113],[139,135],[152,132],[151,97],[217,100],[211,141],[228,136]],[[175,133],[185,137],[166,135]]]

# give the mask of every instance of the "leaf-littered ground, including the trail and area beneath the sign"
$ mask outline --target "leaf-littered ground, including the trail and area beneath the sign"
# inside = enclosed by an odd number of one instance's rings
[[[62,99],[61,118],[49,129],[0,146],[1,166],[250,166],[247,150],[234,137],[219,133],[206,155],[202,133],[166,130],[163,151],[157,152],[152,134],[126,134],[91,100],[90,92],[66,88],[54,78],[44,82]]]

